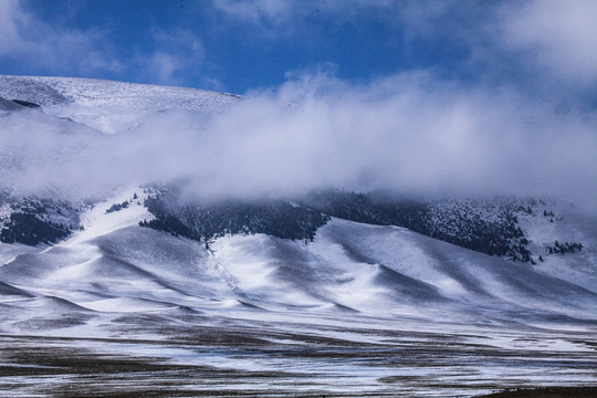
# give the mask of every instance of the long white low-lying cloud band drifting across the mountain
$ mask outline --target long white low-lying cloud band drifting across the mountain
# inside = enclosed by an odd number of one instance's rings
[[[597,195],[597,119],[515,90],[428,73],[350,85],[326,73],[251,93],[206,119],[160,112],[111,136],[22,112],[3,117],[4,181],[97,195],[186,181],[189,196],[296,196],[313,189],[418,195]]]

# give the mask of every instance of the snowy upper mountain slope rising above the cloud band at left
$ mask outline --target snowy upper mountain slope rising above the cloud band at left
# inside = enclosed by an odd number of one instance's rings
[[[190,111],[207,117],[239,101],[237,95],[196,88],[7,75],[0,75],[0,97],[39,104],[50,115],[108,134],[130,129],[151,113]]]

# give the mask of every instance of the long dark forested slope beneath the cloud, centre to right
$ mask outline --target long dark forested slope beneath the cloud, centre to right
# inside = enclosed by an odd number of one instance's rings
[[[512,261],[535,262],[541,255],[531,253],[519,223],[519,216],[532,213],[533,209],[515,199],[417,201],[339,190],[312,192],[296,200],[180,205],[182,199],[176,189],[158,189],[145,201],[156,219],[143,221],[142,226],[205,241],[252,233],[310,241],[320,227],[335,217],[404,227]]]

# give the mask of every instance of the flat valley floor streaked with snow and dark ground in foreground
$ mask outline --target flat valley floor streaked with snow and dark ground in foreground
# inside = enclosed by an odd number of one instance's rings
[[[212,315],[115,315],[98,324],[104,337],[1,335],[0,390],[12,397],[476,397],[597,383],[595,334]],[[496,397],[558,397],[520,394]]]

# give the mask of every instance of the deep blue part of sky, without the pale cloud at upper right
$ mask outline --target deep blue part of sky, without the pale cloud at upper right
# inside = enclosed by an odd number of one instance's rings
[[[182,0],[18,4],[30,20],[52,29],[56,40],[63,32],[86,42],[73,46],[77,59],[64,64],[22,62],[18,51],[8,53],[0,64],[3,73],[84,75],[243,93],[279,85],[287,73],[322,65],[334,65],[342,78],[366,81],[462,56],[453,43],[437,54],[432,48],[439,43],[407,43],[405,27],[386,15],[388,9],[399,12],[396,7],[353,10],[325,1]],[[34,40],[35,32],[29,29],[21,34]],[[96,56],[105,64],[87,65],[83,60]]]

